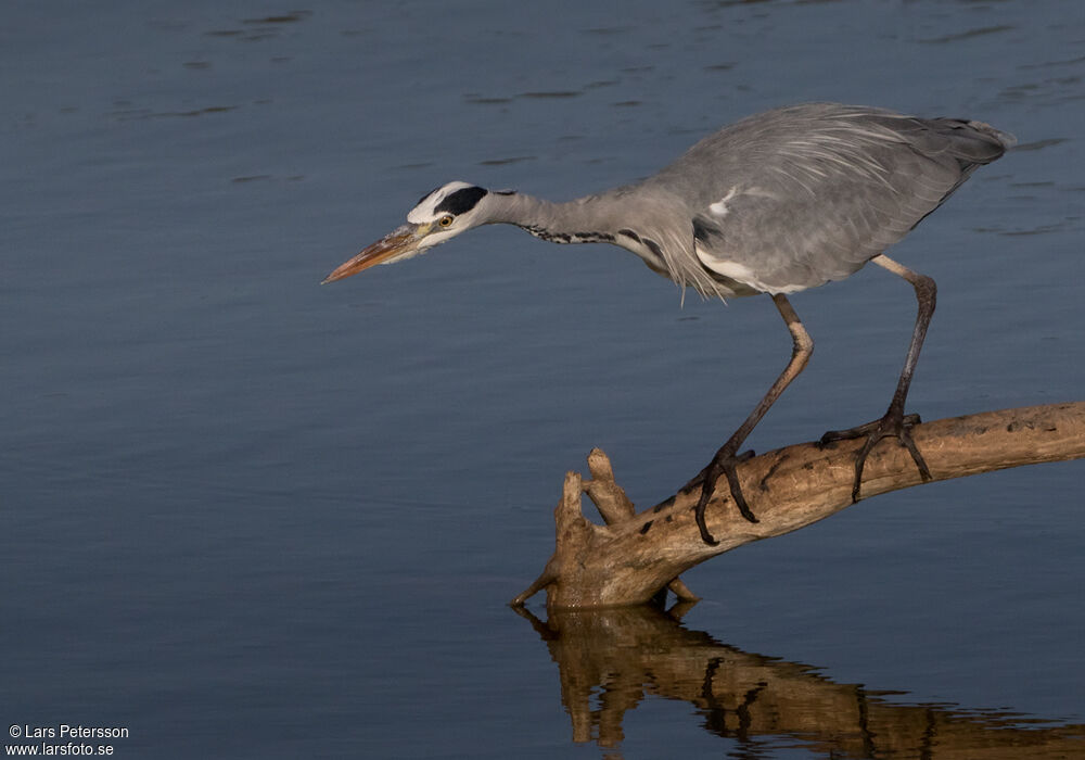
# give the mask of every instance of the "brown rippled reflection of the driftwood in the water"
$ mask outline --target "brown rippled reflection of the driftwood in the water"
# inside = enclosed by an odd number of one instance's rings
[[[689,702],[703,727],[740,745],[791,739],[833,758],[1085,757],[1085,725],[947,705],[899,705],[809,666],[749,654],[690,631],[684,612],[652,607],[553,612],[526,609],[561,675],[573,740],[623,739],[626,713],[648,697]],[[1025,725],[1031,724],[1031,725]]]

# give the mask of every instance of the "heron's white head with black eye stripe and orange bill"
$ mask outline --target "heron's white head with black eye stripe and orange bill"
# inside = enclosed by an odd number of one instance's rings
[[[469,182],[449,182],[426,193],[393,230],[324,278],[334,282],[375,264],[400,262],[485,223],[480,204],[489,191]]]

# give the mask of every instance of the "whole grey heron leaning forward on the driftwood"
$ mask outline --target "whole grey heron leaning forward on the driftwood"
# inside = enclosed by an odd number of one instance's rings
[[[935,284],[885,255],[975,168],[1000,157],[1013,136],[982,122],[919,118],[869,106],[809,103],[746,117],[711,135],[634,185],[552,203],[515,191],[455,181],[423,195],[407,224],[332,271],[324,282],[391,264],[487,224],[511,224],[554,243],[612,243],[654,271],[707,297],[768,294],[792,338],[784,370],[712,461],[684,490],[701,487],[698,529],[717,479],[727,478],[742,516],[756,522],[736,476],[743,441],[814,350],[788,294],[841,280],[873,262],[915,289],[918,314],[889,409],[878,420],[830,431],[821,443],[865,438],[855,457],[852,501],[875,444],[895,438],[924,481],[930,469],[905,414]]]

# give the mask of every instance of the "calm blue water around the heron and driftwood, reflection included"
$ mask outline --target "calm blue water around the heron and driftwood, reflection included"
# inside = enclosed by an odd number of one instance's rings
[[[1085,5],[290,8],[3,7],[4,725],[125,726],[120,758],[1085,756],[1083,463],[720,557],[681,623],[524,618],[564,471],[598,445],[672,493],[787,359],[770,302],[680,308],[625,252],[498,228],[318,287],[450,179],[571,198],[796,101],[961,115],[1021,145],[895,249],[940,286],[911,406],[1080,400]],[[881,414],[914,317],[880,270],[793,302],[817,353],[755,448]]]

